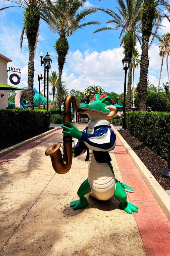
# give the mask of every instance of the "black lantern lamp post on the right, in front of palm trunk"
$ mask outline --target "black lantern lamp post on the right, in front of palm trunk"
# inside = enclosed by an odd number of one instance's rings
[[[123,98],[123,115],[122,115],[122,128],[120,131],[124,131],[126,128],[126,115],[125,115],[125,101],[126,101],[126,76],[127,76],[127,70],[129,68],[130,58],[126,54],[124,59],[122,60],[123,63],[123,70],[125,71],[125,82],[124,82],[124,98]]]

